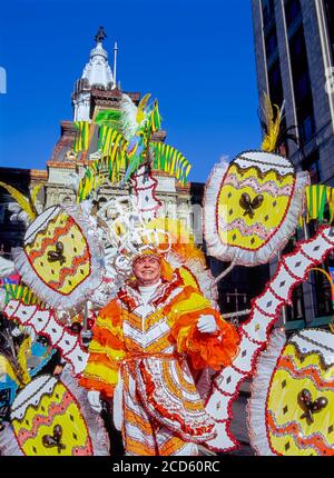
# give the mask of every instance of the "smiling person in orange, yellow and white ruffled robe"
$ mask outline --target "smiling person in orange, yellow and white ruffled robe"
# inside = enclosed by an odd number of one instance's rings
[[[197,455],[215,422],[194,371],[230,365],[238,335],[156,250],[137,255],[132,271],[99,312],[81,385],[96,410],[114,397],[126,455]]]

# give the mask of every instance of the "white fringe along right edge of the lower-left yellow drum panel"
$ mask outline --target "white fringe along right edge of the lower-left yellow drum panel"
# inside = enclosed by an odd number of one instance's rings
[[[94,456],[109,456],[110,444],[100,415],[92,410],[87,399],[87,390],[78,385],[68,367],[65,367],[60,380],[68,387],[80,405],[80,411],[85,418],[89,436],[92,442]]]

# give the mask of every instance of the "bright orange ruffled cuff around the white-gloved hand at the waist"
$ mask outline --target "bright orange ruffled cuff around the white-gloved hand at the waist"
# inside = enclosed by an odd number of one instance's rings
[[[203,333],[197,329],[197,321],[203,315],[215,317],[218,326],[215,333]],[[171,336],[177,342],[178,352],[188,355],[195,370],[228,367],[237,355],[240,342],[235,327],[223,320],[214,309],[185,313],[173,328]]]

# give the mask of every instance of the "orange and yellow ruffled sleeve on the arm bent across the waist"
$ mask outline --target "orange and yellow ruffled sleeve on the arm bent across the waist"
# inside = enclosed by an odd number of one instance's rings
[[[171,326],[170,338],[176,342],[179,353],[188,355],[195,370],[206,367],[219,370],[232,364],[240,341],[238,332],[196,289],[186,287],[166,312]],[[200,332],[197,329],[200,316],[213,316],[217,331]]]

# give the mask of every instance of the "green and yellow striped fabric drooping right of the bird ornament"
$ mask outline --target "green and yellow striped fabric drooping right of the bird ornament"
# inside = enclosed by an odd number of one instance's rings
[[[168,172],[180,182],[186,183],[191,169],[191,165],[187,159],[175,148],[164,142],[153,141],[150,146],[155,155],[154,168]]]

